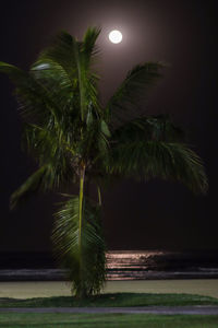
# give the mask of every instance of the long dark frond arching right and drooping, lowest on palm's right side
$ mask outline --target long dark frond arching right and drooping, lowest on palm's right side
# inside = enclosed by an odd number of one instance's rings
[[[137,140],[118,144],[108,169],[138,179],[158,177],[180,181],[196,194],[205,194],[208,187],[201,157],[177,142]]]

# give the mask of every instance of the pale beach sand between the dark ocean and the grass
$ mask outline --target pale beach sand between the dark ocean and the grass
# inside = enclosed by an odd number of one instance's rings
[[[108,281],[105,293],[187,293],[218,297],[218,279]],[[64,281],[0,282],[0,298],[69,296]]]

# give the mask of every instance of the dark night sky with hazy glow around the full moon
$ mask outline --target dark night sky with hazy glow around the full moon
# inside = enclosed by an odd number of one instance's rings
[[[104,194],[104,222],[110,249],[217,249],[217,51],[216,1],[4,1],[0,12],[0,60],[23,69],[60,30],[81,37],[100,25],[106,101],[133,65],[160,60],[170,65],[150,92],[146,114],[169,113],[187,130],[190,144],[204,159],[209,178],[206,197],[159,180],[125,180]],[[123,43],[107,39],[111,30]],[[33,172],[21,151],[21,122],[13,86],[1,84],[0,251],[48,251],[53,196],[32,199],[9,212],[9,197]]]

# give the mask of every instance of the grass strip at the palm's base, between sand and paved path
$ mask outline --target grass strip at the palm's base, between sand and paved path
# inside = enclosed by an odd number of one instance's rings
[[[80,301],[73,296],[39,298],[0,298],[0,307],[76,307],[76,306],[148,306],[218,305],[218,298],[192,294],[114,293]]]

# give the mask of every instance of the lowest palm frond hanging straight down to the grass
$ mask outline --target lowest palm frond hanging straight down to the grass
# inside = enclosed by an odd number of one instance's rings
[[[105,243],[99,207],[84,199],[82,247],[80,247],[78,197],[71,196],[59,212],[52,241],[58,258],[69,270],[72,291],[77,296],[98,293],[105,283]]]

